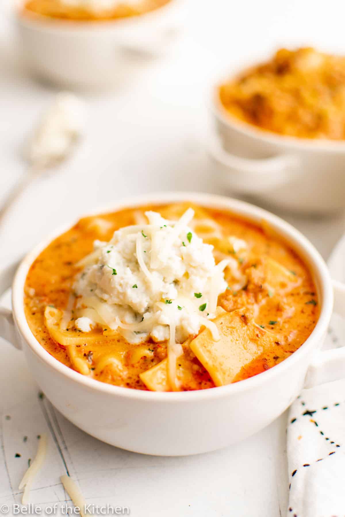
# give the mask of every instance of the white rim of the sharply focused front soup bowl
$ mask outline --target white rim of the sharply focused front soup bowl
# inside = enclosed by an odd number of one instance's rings
[[[333,288],[327,266],[319,252],[313,247],[313,245],[306,237],[304,237],[292,225],[271,214],[270,212],[249,203],[226,196],[196,192],[157,192],[152,194],[140,194],[137,196],[128,197],[123,200],[118,200],[108,204],[107,206],[98,207],[97,209],[88,212],[86,215],[89,216],[104,214],[111,211],[121,210],[126,207],[139,207],[146,204],[159,205],[163,203],[173,203],[179,201],[189,201],[191,203],[200,204],[201,206],[205,207],[208,206],[227,209],[230,212],[233,212],[235,215],[242,215],[249,220],[251,219],[257,222],[266,220],[273,227],[273,229],[283,237],[287,244],[291,245],[292,249],[300,247],[301,250],[304,251],[308,257],[309,267],[315,270],[315,276],[318,277],[316,281],[319,283],[319,295],[320,299],[322,300],[318,322],[308,339],[291,356],[284,359],[275,367],[266,370],[265,372],[244,379],[243,381],[239,381],[238,383],[229,384],[227,386],[208,388],[204,390],[183,392],[144,391],[113,386],[111,384],[102,383],[96,379],[86,377],[72,370],[65,364],[59,362],[51,354],[49,354],[46,349],[43,348],[43,346],[34,337],[34,334],[29,328],[24,314],[23,290],[28,269],[38,254],[44,248],[46,248],[54,238],[56,238],[58,235],[61,235],[71,227],[71,223],[69,223],[67,225],[65,224],[62,228],[55,230],[23,258],[12,283],[12,307],[14,320],[20,329],[22,337],[25,338],[26,343],[31,348],[31,351],[34,352],[44,363],[46,363],[47,366],[50,366],[53,370],[57,371],[61,375],[68,377],[70,381],[84,386],[86,389],[107,393],[110,396],[121,396],[129,399],[152,402],[164,401],[169,403],[182,403],[183,401],[202,401],[213,398],[228,397],[232,394],[252,389],[258,385],[263,384],[266,379],[268,381],[271,377],[279,376],[284,369],[286,370],[292,366],[294,362],[298,361],[300,358],[302,359],[303,356],[311,351],[313,346],[320,342],[324,332],[326,331],[333,311]],[[78,219],[80,219],[80,217]]]

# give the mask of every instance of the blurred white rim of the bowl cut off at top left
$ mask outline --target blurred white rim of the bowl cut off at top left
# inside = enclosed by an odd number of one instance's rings
[[[48,16],[43,16],[42,14],[33,13],[33,16],[23,16],[20,11],[20,4],[23,4],[25,0],[17,0],[17,5],[14,7],[14,15],[20,23],[28,26],[35,26],[36,29],[40,29],[42,31],[52,31],[52,32],[75,32],[75,33],[94,33],[99,32],[100,29],[102,32],[106,32],[109,30],[113,30],[116,28],[123,29],[127,27],[133,27],[135,25],[139,26],[143,23],[154,20],[155,18],[160,18],[161,15],[166,14],[167,12],[173,10],[176,5],[181,4],[182,0],[169,0],[167,4],[154,9],[153,11],[147,11],[139,16],[125,17],[125,18],[116,18],[115,20],[92,20],[92,21],[78,21],[78,20],[65,20],[58,18],[50,18]]]

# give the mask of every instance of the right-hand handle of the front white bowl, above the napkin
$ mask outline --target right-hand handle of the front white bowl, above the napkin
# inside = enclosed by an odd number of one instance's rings
[[[345,317],[345,284],[333,280],[334,312]],[[305,388],[339,381],[345,377],[345,347],[319,351],[307,371]]]

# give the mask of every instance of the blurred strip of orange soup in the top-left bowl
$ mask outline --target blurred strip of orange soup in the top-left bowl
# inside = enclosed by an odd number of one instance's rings
[[[24,14],[74,21],[106,21],[139,16],[170,0],[27,0]]]

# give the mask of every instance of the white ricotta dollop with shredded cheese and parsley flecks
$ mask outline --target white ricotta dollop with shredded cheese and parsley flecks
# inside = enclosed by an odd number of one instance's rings
[[[145,215],[148,224],[124,227],[110,242],[95,241],[94,252],[80,261],[78,315],[118,329],[129,342],[169,340],[168,356],[178,357],[178,343],[203,325],[218,339],[210,320],[227,287],[223,270],[231,259],[216,265],[213,246],[189,226],[191,208],[178,221],[153,211]]]

